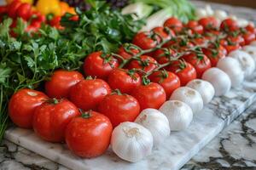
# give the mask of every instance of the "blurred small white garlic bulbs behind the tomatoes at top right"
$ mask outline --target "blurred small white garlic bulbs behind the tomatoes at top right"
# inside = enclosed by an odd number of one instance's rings
[[[220,24],[222,20],[225,20],[227,18],[231,18],[233,20],[237,21],[238,26],[244,27],[249,24],[248,20],[237,18],[236,15],[228,14],[226,11],[221,9],[213,10],[210,5],[206,5],[205,8],[197,8],[195,11],[196,17],[198,19],[207,17],[207,16],[213,16],[218,20],[218,23]]]

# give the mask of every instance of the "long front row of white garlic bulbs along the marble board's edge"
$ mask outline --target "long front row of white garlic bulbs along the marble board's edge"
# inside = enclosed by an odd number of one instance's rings
[[[256,42],[236,50],[218,61],[217,67],[208,69],[202,79],[177,88],[170,99],[155,109],[143,110],[135,122],[123,122],[113,129],[113,152],[125,161],[136,162],[151,154],[171,131],[189,127],[193,116],[198,114],[214,96],[222,96],[230,88],[241,86],[255,70]]]

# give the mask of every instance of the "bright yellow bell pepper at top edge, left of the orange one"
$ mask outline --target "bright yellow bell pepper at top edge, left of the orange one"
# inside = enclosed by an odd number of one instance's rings
[[[61,15],[61,6],[59,0],[38,0],[36,5],[41,14]]]

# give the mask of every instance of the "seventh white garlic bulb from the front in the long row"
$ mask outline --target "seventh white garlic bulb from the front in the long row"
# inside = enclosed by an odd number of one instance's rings
[[[241,85],[244,80],[243,71],[237,59],[231,57],[225,57],[219,59],[217,67],[227,73],[231,80],[231,86],[236,88]]]

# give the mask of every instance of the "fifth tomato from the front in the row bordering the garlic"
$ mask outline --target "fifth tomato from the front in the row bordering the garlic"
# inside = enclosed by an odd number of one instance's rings
[[[194,66],[181,59],[173,61],[166,70],[175,73],[179,77],[181,86],[185,86],[188,82],[196,78]]]

